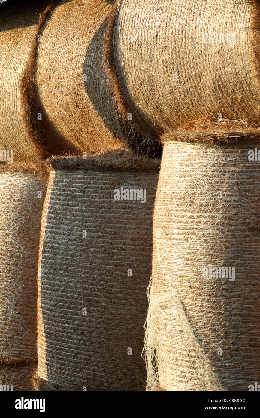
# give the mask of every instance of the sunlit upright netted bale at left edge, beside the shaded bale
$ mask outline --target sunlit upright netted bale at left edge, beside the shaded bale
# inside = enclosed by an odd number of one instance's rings
[[[34,361],[45,184],[26,168],[7,169],[0,166],[0,361]]]

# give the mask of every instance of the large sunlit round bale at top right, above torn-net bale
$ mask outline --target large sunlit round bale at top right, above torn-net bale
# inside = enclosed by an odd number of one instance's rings
[[[256,0],[122,0],[115,57],[125,96],[159,132],[258,124],[259,21]]]

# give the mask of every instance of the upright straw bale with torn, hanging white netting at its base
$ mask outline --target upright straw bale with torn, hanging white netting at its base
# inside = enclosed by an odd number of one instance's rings
[[[260,169],[248,160],[255,147],[259,141],[164,145],[148,390],[237,391],[260,380]],[[231,268],[228,277],[220,268]]]

